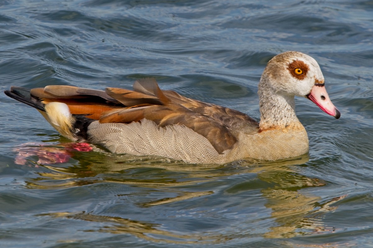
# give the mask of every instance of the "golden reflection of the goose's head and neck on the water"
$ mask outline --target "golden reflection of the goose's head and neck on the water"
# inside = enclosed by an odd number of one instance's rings
[[[261,192],[268,199],[265,206],[272,209],[271,216],[279,225],[271,226],[270,231],[264,234],[265,237],[291,238],[300,234],[335,231],[333,228],[324,227],[320,213],[335,210],[335,207],[329,205],[344,199],[345,196],[322,202],[321,197],[299,190],[324,186],[327,184],[325,181],[297,174],[296,168],[292,167],[273,167],[270,170],[258,173],[258,177],[276,183],[275,187],[263,189]]]

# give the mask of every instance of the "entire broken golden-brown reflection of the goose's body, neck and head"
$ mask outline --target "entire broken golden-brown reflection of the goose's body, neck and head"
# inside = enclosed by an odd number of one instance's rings
[[[59,144],[60,151],[64,152]],[[57,147],[56,146],[56,147]],[[35,149],[33,146],[32,149]],[[43,149],[50,152],[50,146],[44,148],[38,146],[35,154],[43,154]],[[25,149],[22,149],[24,152]],[[95,183],[115,183],[149,188],[150,190],[162,190],[165,193],[173,193],[173,197],[143,197],[138,208],[151,208],[159,205],[172,204],[198,197],[218,197],[214,188],[206,190],[200,187],[207,182],[218,181],[234,175],[253,175],[260,186],[246,187],[247,192],[260,187],[262,197],[266,199],[264,206],[271,210],[273,219],[266,231],[260,234],[264,238],[290,238],[296,235],[312,235],[325,232],[334,232],[333,228],[325,227],[323,214],[335,210],[331,204],[343,199],[345,196],[333,199],[322,199],[312,193],[305,193],[302,189],[309,187],[322,187],[326,181],[316,177],[309,177],[302,173],[300,165],[308,161],[308,156],[298,157],[288,161],[258,163],[253,161],[238,161],[226,165],[195,165],[171,161],[166,158],[138,157],[129,155],[114,155],[100,152],[69,151],[69,160],[65,163],[46,165],[38,164],[43,170],[37,172],[38,176],[27,180],[30,189],[65,189]],[[38,157],[28,157],[32,164],[40,161]],[[49,161],[49,160],[45,160]],[[235,193],[242,187],[234,184],[226,191]],[[189,187],[186,187],[189,186]],[[199,190],[203,188],[204,190]],[[169,194],[168,194],[169,195]],[[158,196],[157,196],[158,197]],[[211,198],[209,198],[211,199]],[[224,214],[224,213],[222,213]],[[149,241],[163,241],[170,243],[193,242],[221,242],[242,236],[257,236],[250,230],[246,232],[229,231],[216,228],[209,232],[176,232],[163,228],[164,223],[144,222],[123,218],[122,216],[95,215],[94,213],[53,213],[56,217],[76,218],[87,221],[104,223],[105,227],[97,230],[100,232],[129,233]],[[241,217],[240,217],[241,218]],[[251,218],[250,225],[257,220]],[[172,221],[172,220],[165,220]],[[245,223],[245,219],[238,220]],[[187,233],[187,234],[186,234]]]

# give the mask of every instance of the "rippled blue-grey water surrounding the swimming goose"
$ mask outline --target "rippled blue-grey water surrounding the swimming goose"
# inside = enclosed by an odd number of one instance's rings
[[[258,119],[267,61],[296,50],[319,62],[341,111],[296,99],[308,155],[185,165],[67,152],[36,110],[1,94],[1,247],[372,247],[372,0],[4,0],[0,37],[1,91],[152,76]]]

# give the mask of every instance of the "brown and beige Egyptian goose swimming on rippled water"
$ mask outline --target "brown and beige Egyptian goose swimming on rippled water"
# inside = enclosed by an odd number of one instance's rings
[[[294,96],[307,97],[338,119],[316,60],[301,52],[272,58],[258,86],[260,122],[237,110],[160,90],[153,78],[134,90],[47,86],[4,91],[35,107],[63,136],[113,153],[157,155],[189,163],[244,158],[281,160],[308,152]]]

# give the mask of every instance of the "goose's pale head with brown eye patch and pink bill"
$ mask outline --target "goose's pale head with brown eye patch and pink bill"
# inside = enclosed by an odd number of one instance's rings
[[[258,93],[261,101],[268,94],[274,94],[286,99],[293,108],[294,96],[306,97],[325,113],[338,119],[341,113],[331,102],[324,81],[320,66],[314,58],[289,51],[276,55],[268,62],[260,79]]]

